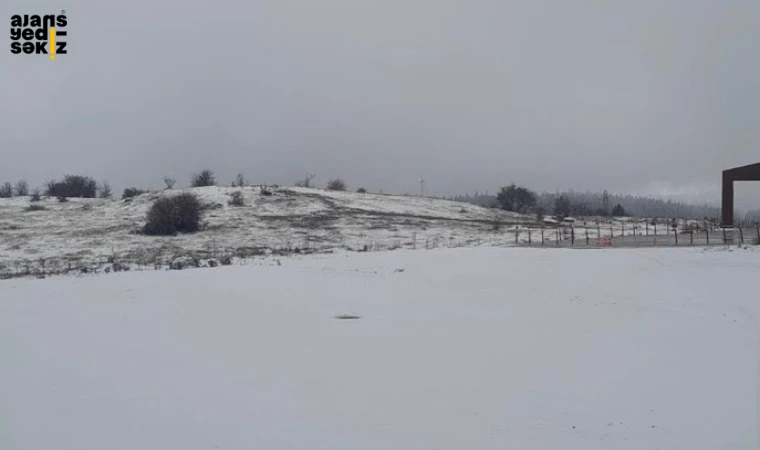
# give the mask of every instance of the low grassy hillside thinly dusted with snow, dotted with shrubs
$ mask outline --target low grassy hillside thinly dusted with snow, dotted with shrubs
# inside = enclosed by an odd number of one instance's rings
[[[227,203],[242,191],[244,207]],[[131,200],[28,197],[0,199],[0,274],[55,271],[106,262],[154,266],[177,257],[248,257],[270,250],[359,250],[507,244],[493,224],[533,217],[433,198],[332,192],[308,188],[205,187],[144,194]],[[204,231],[176,237],[136,233],[161,196],[193,192],[212,205]]]

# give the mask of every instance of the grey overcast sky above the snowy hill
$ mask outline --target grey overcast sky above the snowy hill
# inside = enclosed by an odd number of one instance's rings
[[[0,1],[6,30],[62,9],[55,61],[4,33],[0,181],[158,188],[210,167],[708,201],[760,161],[757,0]]]

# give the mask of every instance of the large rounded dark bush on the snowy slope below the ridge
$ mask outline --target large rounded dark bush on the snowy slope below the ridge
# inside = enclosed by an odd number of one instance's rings
[[[143,232],[170,236],[198,231],[202,205],[193,194],[180,194],[156,200],[148,211]]]

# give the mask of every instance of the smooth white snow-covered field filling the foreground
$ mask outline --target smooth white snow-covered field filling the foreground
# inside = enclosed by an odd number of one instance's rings
[[[475,248],[6,280],[0,448],[757,448],[758,270]]]

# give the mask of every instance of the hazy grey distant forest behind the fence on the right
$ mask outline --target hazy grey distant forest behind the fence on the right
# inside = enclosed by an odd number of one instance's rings
[[[606,192],[543,192],[536,195],[535,210],[545,211],[551,214],[555,208],[555,202],[559,197],[565,197],[570,201],[569,213],[571,216],[599,215],[600,211],[610,211],[612,205],[621,205],[625,214],[636,217],[662,217],[681,219],[704,219],[719,218],[720,208],[709,205],[691,205],[672,200],[661,200],[650,197],[637,197],[633,195],[610,194]],[[606,200],[605,200],[606,196]],[[499,202],[495,195],[475,193],[474,195],[456,195],[448,197],[449,200],[472,203],[486,207],[498,207]],[[760,216],[760,211],[756,211]],[[747,217],[746,220],[752,220]]]

